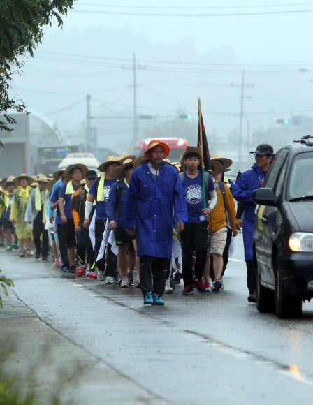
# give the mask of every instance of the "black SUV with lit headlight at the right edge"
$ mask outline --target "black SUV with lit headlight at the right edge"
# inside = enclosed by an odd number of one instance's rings
[[[253,200],[256,307],[299,318],[313,297],[313,136],[279,149]]]

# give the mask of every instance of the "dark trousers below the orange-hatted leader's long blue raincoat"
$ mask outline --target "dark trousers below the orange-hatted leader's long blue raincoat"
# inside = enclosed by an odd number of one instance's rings
[[[140,256],[140,288],[143,295],[150,291],[159,294],[160,297],[164,294],[169,263],[170,259],[168,258]]]

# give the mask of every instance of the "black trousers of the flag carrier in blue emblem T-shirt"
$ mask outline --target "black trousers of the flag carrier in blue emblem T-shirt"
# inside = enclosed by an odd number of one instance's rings
[[[192,286],[194,275],[198,280],[203,277],[208,250],[208,221],[185,223],[180,233],[182,240],[182,279],[185,286]],[[192,269],[193,253],[196,250],[196,264]]]

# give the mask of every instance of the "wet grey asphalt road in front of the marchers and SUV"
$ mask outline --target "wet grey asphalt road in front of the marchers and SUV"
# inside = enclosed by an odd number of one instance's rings
[[[45,325],[150,396],[117,392],[110,403],[310,404],[313,306],[300,320],[259,314],[247,302],[242,235],[236,245],[224,291],[182,296],[181,283],[164,307],[144,306],[137,288],[61,274],[3,248],[0,267]]]

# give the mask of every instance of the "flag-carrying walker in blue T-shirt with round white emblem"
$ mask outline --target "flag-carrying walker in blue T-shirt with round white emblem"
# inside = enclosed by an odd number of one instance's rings
[[[208,216],[217,202],[212,177],[205,173],[205,190],[201,168],[202,148],[187,146],[182,155],[184,172],[180,173],[184,196],[187,202],[188,221],[180,234],[182,240],[182,294],[194,293],[194,286],[199,293],[205,293],[203,270],[208,250]],[[203,200],[210,200],[204,208]],[[205,203],[205,207],[207,204]],[[196,263],[193,269],[193,253],[196,250]]]

